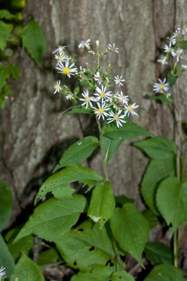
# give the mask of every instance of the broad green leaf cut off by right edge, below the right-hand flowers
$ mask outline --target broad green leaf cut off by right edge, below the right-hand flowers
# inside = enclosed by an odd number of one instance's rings
[[[157,188],[156,200],[167,226],[172,223],[170,233],[174,233],[174,230],[187,221],[187,183],[181,184],[174,176],[165,178]]]

